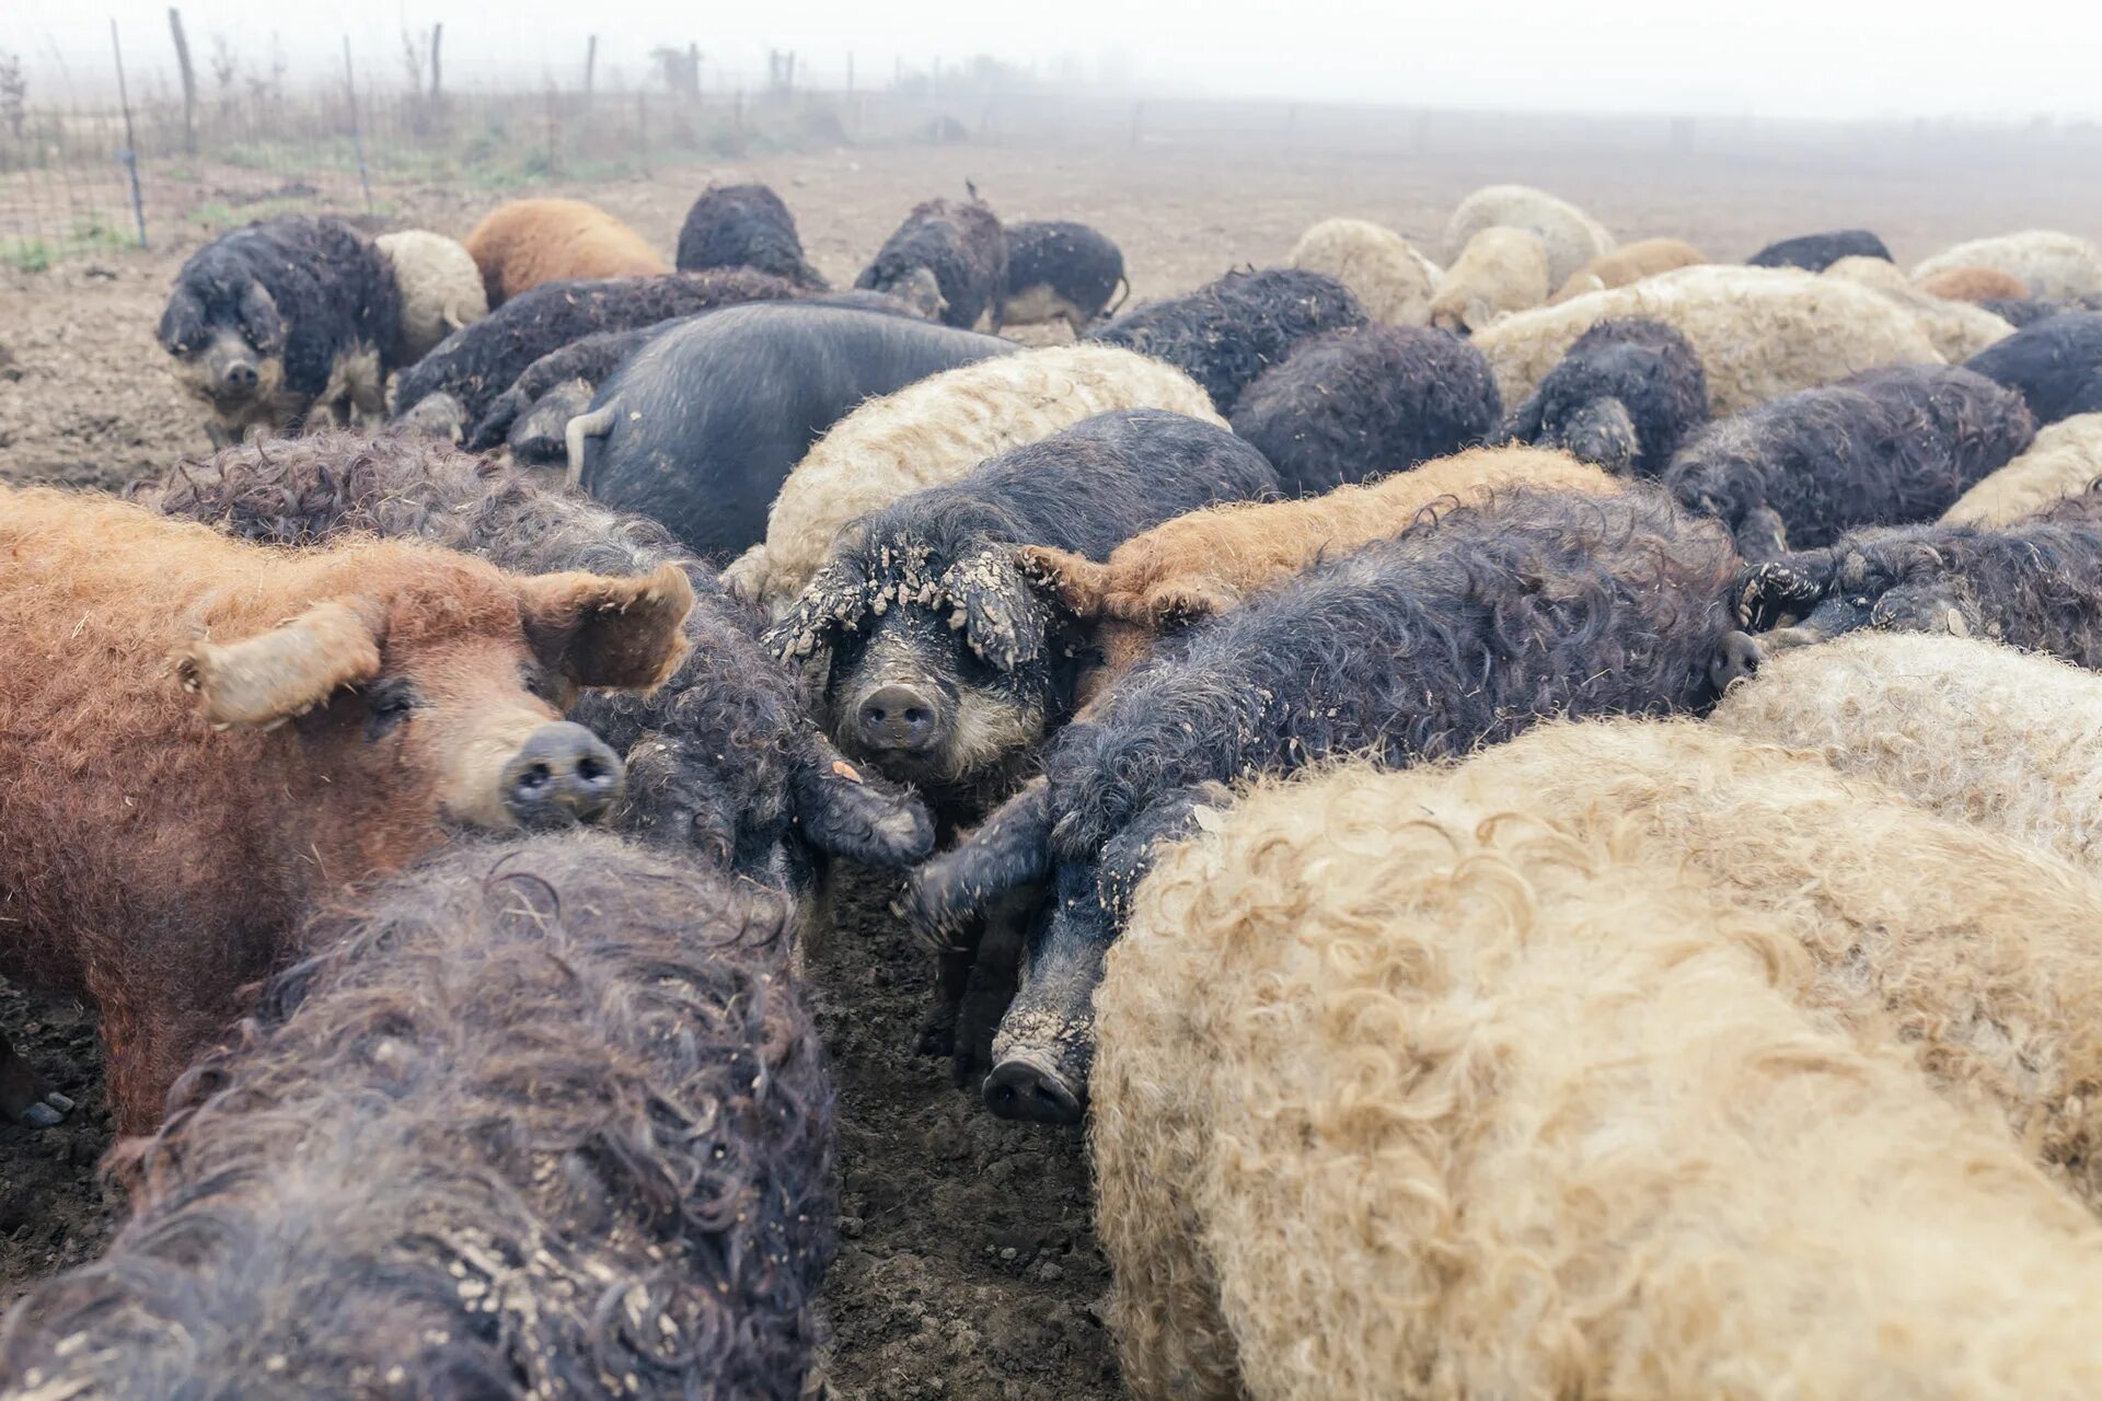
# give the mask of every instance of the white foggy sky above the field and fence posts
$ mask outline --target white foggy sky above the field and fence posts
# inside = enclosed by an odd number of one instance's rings
[[[446,25],[460,84],[570,82],[599,34],[601,82],[639,84],[658,44],[700,44],[704,84],[765,71],[792,48],[820,86],[881,86],[902,63],[971,55],[1148,95],[1396,103],[1509,111],[1743,113],[1761,118],[2102,118],[2102,4],[2007,0],[1469,0],[1427,6],[1253,0],[410,0],[320,6],[191,0],[191,44],[214,34],[265,59],[275,29],[292,82],[341,74],[343,38],[368,78],[401,74],[401,32]],[[109,19],[139,82],[172,76],[160,0],[0,0],[0,50],[46,97],[99,95]],[[90,13],[92,11],[92,13]],[[341,15],[322,19],[324,15]],[[200,59],[202,65],[202,59]],[[59,90],[53,90],[59,88]]]

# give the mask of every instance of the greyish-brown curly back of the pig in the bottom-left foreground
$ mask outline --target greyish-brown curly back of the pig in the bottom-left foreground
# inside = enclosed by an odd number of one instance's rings
[[[13,1397],[809,1395],[832,1088],[782,901],[612,838],[332,909],[124,1153]]]

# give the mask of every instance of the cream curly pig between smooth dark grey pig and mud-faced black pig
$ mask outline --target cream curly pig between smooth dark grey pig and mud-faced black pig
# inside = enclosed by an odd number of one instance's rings
[[[795,464],[774,498],[765,542],[727,573],[744,597],[780,613],[809,586],[847,521],[1083,418],[1135,407],[1225,426],[1188,374],[1108,344],[998,355],[870,399]]]

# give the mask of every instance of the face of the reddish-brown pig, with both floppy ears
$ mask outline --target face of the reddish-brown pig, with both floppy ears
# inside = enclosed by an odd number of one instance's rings
[[[511,578],[393,544],[334,559],[290,622],[174,657],[212,727],[298,748],[288,769],[313,821],[385,844],[437,821],[547,828],[612,809],[620,758],[559,706],[677,666],[694,601],[677,567]]]

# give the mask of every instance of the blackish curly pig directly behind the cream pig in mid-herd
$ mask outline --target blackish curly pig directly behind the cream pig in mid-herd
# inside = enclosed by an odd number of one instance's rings
[[[1186,296],[1146,302],[1089,340],[1165,359],[1204,386],[1221,414],[1263,370],[1322,332],[1364,326],[1364,307],[1343,284],[1299,269],[1228,273]]]

